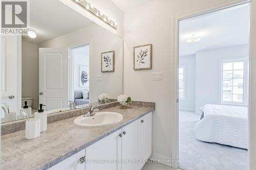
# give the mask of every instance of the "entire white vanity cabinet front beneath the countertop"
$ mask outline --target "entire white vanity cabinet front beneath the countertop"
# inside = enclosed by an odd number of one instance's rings
[[[49,169],[140,170],[151,154],[152,112]],[[86,161],[77,162],[83,156]]]

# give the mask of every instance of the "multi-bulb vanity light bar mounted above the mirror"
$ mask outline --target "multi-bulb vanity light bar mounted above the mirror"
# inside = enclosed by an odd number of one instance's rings
[[[80,7],[82,7],[84,10],[90,12],[115,30],[117,30],[117,22],[113,21],[110,17],[104,15],[102,12],[100,12],[97,8],[95,8],[92,4],[88,3],[86,0],[71,0]]]

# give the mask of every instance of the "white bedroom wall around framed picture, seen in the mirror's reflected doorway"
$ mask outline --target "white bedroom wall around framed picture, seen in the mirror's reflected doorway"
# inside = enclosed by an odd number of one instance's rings
[[[89,90],[89,82],[87,82],[87,87],[80,87],[80,77],[79,77],[79,66],[88,66],[89,67],[89,58],[90,58],[90,45],[78,47],[72,49],[72,57],[74,60],[74,90]],[[71,53],[72,53],[71,52]],[[90,78],[90,75],[89,75]]]

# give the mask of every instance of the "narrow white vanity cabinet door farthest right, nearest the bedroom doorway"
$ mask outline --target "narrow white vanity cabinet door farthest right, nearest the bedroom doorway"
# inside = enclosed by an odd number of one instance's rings
[[[152,112],[140,118],[140,159],[152,154]]]

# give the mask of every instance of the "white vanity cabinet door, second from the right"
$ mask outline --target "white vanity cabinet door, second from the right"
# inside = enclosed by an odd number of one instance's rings
[[[139,169],[139,120],[122,128],[122,170]]]

